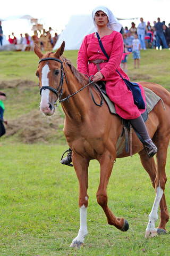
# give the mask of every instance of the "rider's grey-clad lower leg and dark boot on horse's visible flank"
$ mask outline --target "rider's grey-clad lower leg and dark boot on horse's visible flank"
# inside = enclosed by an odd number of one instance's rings
[[[149,137],[147,127],[142,116],[135,119],[130,119],[133,129],[137,132],[138,138],[143,143],[143,146],[148,154],[148,157],[153,157],[157,153],[157,147]]]

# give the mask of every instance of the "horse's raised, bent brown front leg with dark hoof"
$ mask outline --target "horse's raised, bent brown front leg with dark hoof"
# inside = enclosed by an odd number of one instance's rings
[[[129,229],[128,221],[124,218],[116,218],[112,211],[107,206],[107,185],[112,173],[113,163],[115,157],[109,152],[106,152],[100,159],[100,183],[97,191],[97,202],[103,208],[107,222],[109,225],[113,225],[121,231],[127,231]]]

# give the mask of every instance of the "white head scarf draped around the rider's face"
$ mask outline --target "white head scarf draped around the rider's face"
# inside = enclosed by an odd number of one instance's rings
[[[118,32],[121,31],[121,28],[122,28],[121,23],[118,22],[117,18],[113,15],[111,10],[109,10],[105,6],[97,6],[92,11],[92,20],[94,21],[95,25],[96,25],[96,23],[95,23],[95,13],[98,12],[98,11],[102,11],[102,12],[104,12],[107,15],[107,17],[108,17],[108,28],[109,29],[112,29],[112,30],[115,30],[115,31],[118,31]]]

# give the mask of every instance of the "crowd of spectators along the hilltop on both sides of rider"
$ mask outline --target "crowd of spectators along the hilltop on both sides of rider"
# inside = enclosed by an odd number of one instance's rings
[[[131,27],[125,27],[121,30],[123,41],[128,52],[132,51],[132,41],[135,35],[138,35],[140,41],[140,50],[151,49],[165,49],[170,47],[170,23],[166,26],[165,21],[154,21],[152,24],[147,23],[140,18],[140,23],[136,27],[135,23],[131,23]],[[57,33],[53,35],[53,30],[49,27],[48,31],[36,30],[33,31],[33,35],[28,33],[24,35],[20,34],[20,38],[17,39],[12,33],[8,36],[8,42],[15,45],[16,51],[30,51],[33,50],[33,45],[36,43],[41,47],[41,50],[52,50],[58,39]],[[0,21],[0,45],[3,45],[3,30]]]

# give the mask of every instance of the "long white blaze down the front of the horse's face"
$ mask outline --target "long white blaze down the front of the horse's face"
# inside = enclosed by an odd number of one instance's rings
[[[48,79],[49,71],[50,71],[50,69],[49,69],[48,65],[46,64],[42,69],[42,77],[41,77],[42,86],[49,86],[49,79]],[[40,103],[41,110],[44,108],[47,108],[49,106],[48,105],[49,92],[50,91],[48,89],[41,91],[41,103]]]

